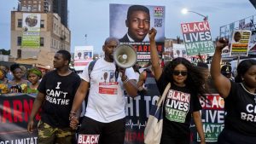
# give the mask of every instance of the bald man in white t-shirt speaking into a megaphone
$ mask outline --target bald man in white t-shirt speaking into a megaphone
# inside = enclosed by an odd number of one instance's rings
[[[87,91],[90,90],[78,143],[86,143],[87,140],[101,144],[124,143],[125,92],[132,97],[137,96],[137,78],[131,67],[134,60],[130,59],[137,55],[135,53],[134,56],[129,46],[125,45],[125,48],[128,50],[124,49],[123,45],[119,45],[117,38],[108,37],[102,46],[105,57],[96,60],[90,76],[89,65],[84,68],[81,75],[82,82],[70,112],[70,126],[75,129],[79,122],[76,113]],[[89,85],[90,89],[88,89]]]

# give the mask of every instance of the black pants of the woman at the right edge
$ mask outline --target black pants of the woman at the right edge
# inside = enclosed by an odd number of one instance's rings
[[[218,144],[256,144],[256,137],[241,135],[232,130],[223,130],[218,135]]]

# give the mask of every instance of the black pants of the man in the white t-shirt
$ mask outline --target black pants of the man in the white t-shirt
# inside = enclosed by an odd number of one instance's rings
[[[84,117],[79,130],[78,144],[123,144],[125,141],[125,118],[111,123],[101,123]]]

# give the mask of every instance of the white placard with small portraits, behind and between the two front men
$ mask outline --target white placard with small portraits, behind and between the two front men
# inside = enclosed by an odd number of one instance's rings
[[[93,60],[93,46],[76,46],[74,49],[74,69],[84,70],[90,61]]]

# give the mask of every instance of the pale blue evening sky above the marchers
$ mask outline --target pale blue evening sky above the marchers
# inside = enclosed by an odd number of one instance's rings
[[[0,0],[0,3],[0,49],[10,49],[10,12],[17,8],[18,0]],[[81,45],[92,45],[95,54],[102,52],[102,44],[109,37],[110,3],[165,6],[166,38],[182,37],[181,23],[203,19],[194,13],[182,14],[183,8],[208,16],[212,39],[218,37],[220,26],[256,14],[248,0],[68,0],[72,52]]]

